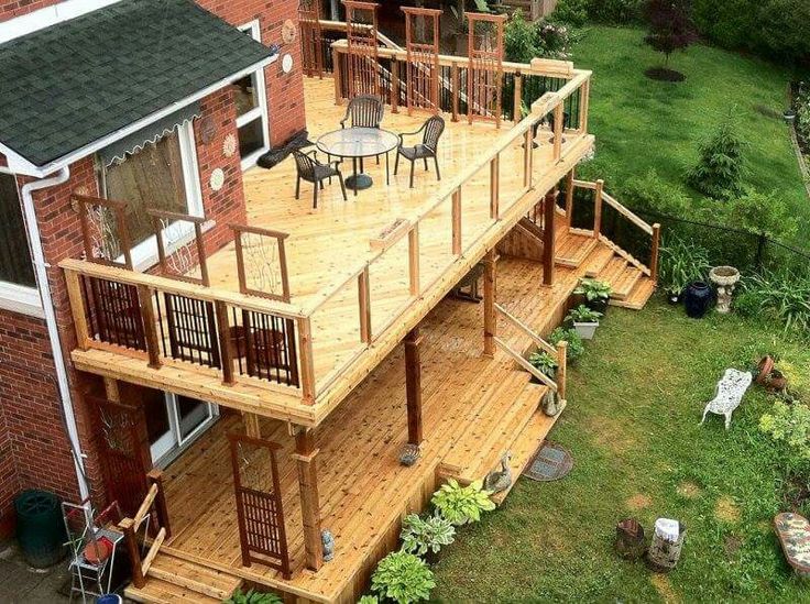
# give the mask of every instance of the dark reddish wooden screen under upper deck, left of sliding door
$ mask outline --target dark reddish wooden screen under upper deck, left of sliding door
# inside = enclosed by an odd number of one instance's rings
[[[146,474],[152,469],[143,409],[99,396],[86,395],[86,399],[98,410],[107,499],[118,502],[132,516],[149,491]]]

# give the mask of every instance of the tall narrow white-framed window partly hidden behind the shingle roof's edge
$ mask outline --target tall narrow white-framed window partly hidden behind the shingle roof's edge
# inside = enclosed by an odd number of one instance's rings
[[[259,21],[240,28],[261,42]],[[255,164],[259,155],[267,151],[267,100],[264,89],[264,70],[244,76],[233,83],[237,88],[237,128],[239,130],[239,155],[242,169]]]

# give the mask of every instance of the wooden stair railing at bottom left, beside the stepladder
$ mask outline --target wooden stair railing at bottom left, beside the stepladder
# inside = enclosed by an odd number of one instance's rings
[[[141,507],[138,508],[132,518],[124,518],[118,525],[127,543],[127,552],[132,567],[132,584],[138,589],[146,584],[146,574],[152,562],[154,562],[163,542],[172,536],[166,494],[163,487],[163,472],[154,469],[146,474],[146,479],[150,487]],[[142,557],[141,540],[147,539],[146,534],[150,532],[150,527],[153,527],[154,538],[149,550],[146,550],[146,554]],[[145,530],[141,531],[141,528],[145,528]],[[142,536],[141,532],[143,532]]]

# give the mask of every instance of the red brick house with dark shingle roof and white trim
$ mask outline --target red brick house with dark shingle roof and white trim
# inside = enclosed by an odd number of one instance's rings
[[[102,488],[68,353],[57,264],[81,255],[70,195],[135,200],[134,261],[155,261],[146,202],[205,216],[210,251],[243,220],[242,172],[305,125],[293,0],[0,1],[0,535],[15,493]],[[291,61],[292,59],[292,61]],[[171,454],[212,407],[156,402],[152,452]]]

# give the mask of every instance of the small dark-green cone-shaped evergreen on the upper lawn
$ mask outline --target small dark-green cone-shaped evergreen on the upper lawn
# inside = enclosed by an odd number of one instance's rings
[[[701,143],[698,164],[687,174],[689,184],[715,199],[742,193],[745,142],[731,114]]]

